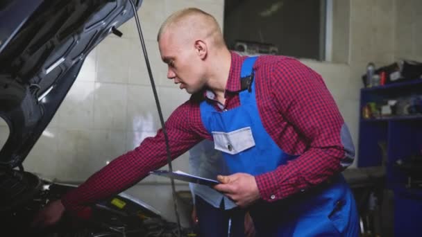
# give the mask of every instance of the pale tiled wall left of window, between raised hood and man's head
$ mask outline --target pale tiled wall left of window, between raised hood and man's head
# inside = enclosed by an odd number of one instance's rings
[[[139,10],[164,119],[189,94],[167,79],[156,36],[171,12],[188,6],[203,8],[222,24],[222,0],[145,0]],[[134,19],[119,30],[123,37],[109,35],[87,56],[74,86],[28,155],[25,161],[28,170],[82,182],[161,128]],[[186,155],[176,160],[174,167],[187,171]],[[144,180],[156,181],[168,182],[157,177]]]

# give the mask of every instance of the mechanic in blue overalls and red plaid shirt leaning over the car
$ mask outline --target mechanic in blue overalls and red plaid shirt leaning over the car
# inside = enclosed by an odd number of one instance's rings
[[[353,143],[323,79],[298,60],[228,51],[217,21],[196,8],[160,28],[167,77],[192,97],[165,126],[172,158],[202,139],[221,150],[231,175],[214,186],[250,210],[258,236],[357,236],[353,194],[341,176]],[[119,193],[166,164],[161,130],[52,202],[35,224]]]

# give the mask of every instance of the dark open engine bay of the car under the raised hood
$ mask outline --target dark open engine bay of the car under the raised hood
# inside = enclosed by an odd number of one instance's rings
[[[34,176],[31,176],[31,179]],[[2,184],[3,187],[6,185]],[[3,204],[6,204],[2,207],[3,210],[0,211],[0,220],[3,220],[2,225],[5,227],[3,231],[5,231],[4,233],[14,233],[14,236],[179,236],[175,222],[164,220],[159,213],[156,213],[147,205],[143,205],[141,201],[128,198],[128,196],[124,197],[124,195],[116,195],[108,200],[94,204],[90,220],[79,220],[65,213],[56,225],[44,229],[35,229],[31,227],[31,222],[37,211],[49,202],[60,199],[70,188],[75,188],[75,186],[47,182],[42,179],[40,179],[40,185],[23,186],[21,181],[20,184],[15,182],[12,186],[15,187],[15,190],[19,189],[21,192],[19,196],[22,196],[24,188],[35,188],[35,191],[25,190],[26,193],[33,193],[33,196],[26,198],[26,200],[21,200],[19,203],[12,204],[10,199],[3,200]],[[17,186],[20,187],[17,188]],[[181,229],[181,232],[180,236],[196,236],[191,229]]]

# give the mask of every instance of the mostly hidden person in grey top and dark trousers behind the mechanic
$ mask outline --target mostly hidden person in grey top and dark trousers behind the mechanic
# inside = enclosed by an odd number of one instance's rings
[[[189,173],[215,179],[229,170],[214,143],[204,140],[189,150]],[[189,188],[194,200],[192,220],[199,227],[199,236],[253,236],[253,223],[244,209],[209,186],[190,183]]]

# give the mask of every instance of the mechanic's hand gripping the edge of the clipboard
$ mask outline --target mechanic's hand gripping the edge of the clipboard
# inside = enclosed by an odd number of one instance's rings
[[[235,173],[228,176],[219,175],[217,179],[222,184],[217,184],[214,188],[228,196],[239,207],[247,207],[260,198],[260,191],[252,175]]]

